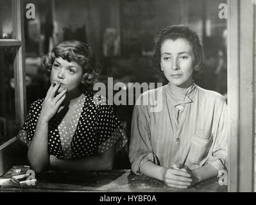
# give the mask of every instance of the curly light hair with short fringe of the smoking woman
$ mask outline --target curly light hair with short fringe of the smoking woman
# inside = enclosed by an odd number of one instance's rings
[[[67,61],[74,61],[83,68],[83,79],[81,81],[81,92],[92,92],[94,84],[97,82],[101,65],[92,53],[92,48],[80,41],[69,40],[53,47],[51,53],[43,58],[43,66],[47,74],[51,74],[51,69],[55,58],[63,58]]]

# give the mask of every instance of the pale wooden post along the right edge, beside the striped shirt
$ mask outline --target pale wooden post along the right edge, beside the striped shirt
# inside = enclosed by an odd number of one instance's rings
[[[255,73],[253,1],[228,0],[228,108],[230,192],[253,192]]]

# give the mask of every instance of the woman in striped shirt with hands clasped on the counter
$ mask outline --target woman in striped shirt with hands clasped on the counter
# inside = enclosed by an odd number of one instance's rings
[[[169,83],[144,92],[135,105],[129,153],[133,172],[173,188],[218,176],[227,162],[226,102],[192,79],[203,68],[198,35],[187,26],[164,28],[153,64]],[[162,96],[157,99],[161,110],[139,104],[155,96]]]

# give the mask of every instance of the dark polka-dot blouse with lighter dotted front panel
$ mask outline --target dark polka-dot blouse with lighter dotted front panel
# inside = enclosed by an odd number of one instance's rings
[[[30,106],[28,116],[17,138],[30,146],[44,99]],[[128,142],[123,126],[107,99],[94,93],[82,94],[76,103],[71,122],[56,113],[49,122],[48,149],[60,159],[84,158],[102,154],[115,145],[120,151]]]

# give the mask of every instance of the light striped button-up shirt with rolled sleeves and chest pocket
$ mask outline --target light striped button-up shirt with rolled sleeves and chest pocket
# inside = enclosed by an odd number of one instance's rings
[[[162,96],[160,111],[138,103],[133,110],[129,152],[133,172],[140,174],[148,160],[166,168],[183,163],[192,170],[210,163],[217,170],[226,169],[228,129],[222,95],[194,83],[184,94],[175,94],[168,84],[144,92],[138,101],[156,95]]]

